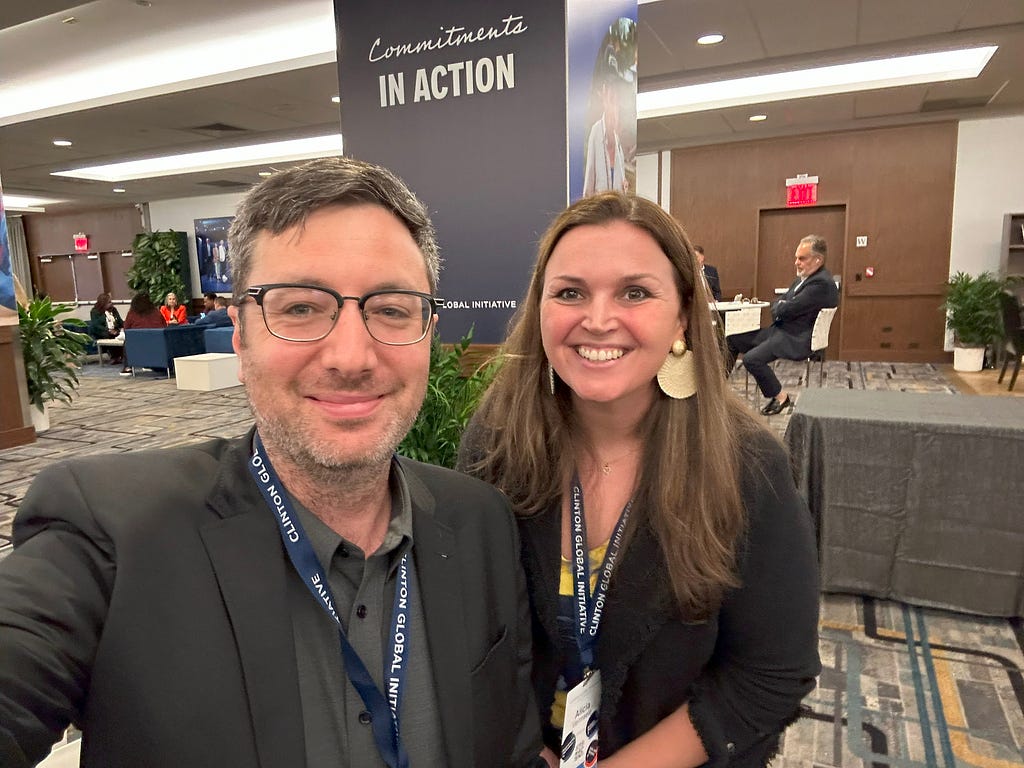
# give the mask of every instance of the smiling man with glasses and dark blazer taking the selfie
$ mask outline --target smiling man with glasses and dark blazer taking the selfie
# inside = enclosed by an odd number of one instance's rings
[[[314,161],[229,250],[256,427],[40,474],[0,561],[0,765],[74,722],[85,766],[543,766],[508,505],[394,457],[436,323],[423,205]]]

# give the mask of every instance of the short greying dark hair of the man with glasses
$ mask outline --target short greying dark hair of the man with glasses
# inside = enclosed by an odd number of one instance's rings
[[[351,158],[323,158],[274,173],[239,204],[227,234],[234,301],[241,301],[249,287],[260,233],[281,234],[336,205],[378,205],[393,213],[419,246],[430,292],[437,292],[440,256],[426,206],[386,168]]]

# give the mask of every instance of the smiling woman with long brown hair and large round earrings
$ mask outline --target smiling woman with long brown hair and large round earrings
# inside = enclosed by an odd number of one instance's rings
[[[554,221],[461,457],[519,515],[552,765],[763,766],[814,686],[810,518],[722,359],[675,219]]]

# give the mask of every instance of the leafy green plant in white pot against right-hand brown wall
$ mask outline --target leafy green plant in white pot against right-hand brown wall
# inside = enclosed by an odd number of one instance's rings
[[[981,371],[985,347],[999,338],[1002,315],[999,293],[1004,281],[991,272],[972,276],[956,272],[946,284],[942,309],[953,334],[953,370]]]

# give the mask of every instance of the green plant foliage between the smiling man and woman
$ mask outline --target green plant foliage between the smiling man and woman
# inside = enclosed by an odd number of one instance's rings
[[[492,360],[468,374],[463,372],[463,356],[472,338],[470,329],[456,344],[441,344],[436,334],[431,339],[427,394],[413,428],[398,445],[402,456],[455,467],[462,432],[498,370]]]

